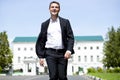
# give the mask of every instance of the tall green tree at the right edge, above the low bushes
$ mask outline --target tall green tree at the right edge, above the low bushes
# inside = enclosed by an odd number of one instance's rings
[[[106,67],[120,67],[120,28],[112,27],[108,31],[108,39],[104,43],[103,64]]]

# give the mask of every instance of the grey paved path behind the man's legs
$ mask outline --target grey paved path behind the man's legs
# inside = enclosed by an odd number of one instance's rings
[[[38,76],[0,76],[0,80],[49,80],[48,75]],[[91,80],[85,76],[68,76],[68,80]]]

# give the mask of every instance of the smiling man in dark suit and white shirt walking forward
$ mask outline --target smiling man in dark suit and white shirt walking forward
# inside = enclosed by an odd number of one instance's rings
[[[50,80],[67,80],[67,64],[74,53],[74,35],[68,19],[58,16],[60,4],[52,1],[49,5],[51,17],[41,25],[36,42],[36,54],[40,65],[46,59]]]

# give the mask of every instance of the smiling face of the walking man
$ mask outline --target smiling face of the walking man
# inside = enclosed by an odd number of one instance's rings
[[[60,6],[56,3],[52,3],[49,10],[52,16],[57,16],[60,11]]]

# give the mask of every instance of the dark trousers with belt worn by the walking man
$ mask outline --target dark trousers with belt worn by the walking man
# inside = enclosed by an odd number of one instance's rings
[[[46,61],[49,69],[50,80],[68,80],[67,63],[64,58],[65,51],[46,50]]]

